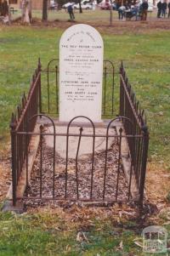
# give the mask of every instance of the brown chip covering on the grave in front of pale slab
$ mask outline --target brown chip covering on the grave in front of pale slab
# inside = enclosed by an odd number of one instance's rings
[[[78,192],[79,200],[88,199],[91,189],[91,169],[92,155],[80,158],[78,160]],[[54,195],[57,199],[64,199],[65,196],[65,158],[55,153],[55,174],[53,175],[53,148],[42,142],[42,198],[53,197],[53,177],[55,180]],[[73,158],[68,160],[68,181],[67,181],[67,196],[72,201],[77,200],[77,179],[76,179],[76,161]],[[117,139],[108,150],[107,154],[107,171],[105,179],[105,202],[115,200],[116,198],[116,180],[118,168],[118,144]],[[94,155],[94,189],[93,201],[103,199],[104,190],[104,172],[105,172],[105,151],[95,152]],[[117,201],[126,201],[128,193],[128,185],[123,173],[122,165],[120,166],[120,174],[118,181],[118,196]],[[24,202],[31,205],[44,204],[42,200],[29,199],[29,196],[40,196],[40,149],[37,152],[37,157],[31,172],[31,180],[28,188],[28,199]],[[54,201],[57,203],[57,201]],[[54,203],[53,202],[53,203]]]

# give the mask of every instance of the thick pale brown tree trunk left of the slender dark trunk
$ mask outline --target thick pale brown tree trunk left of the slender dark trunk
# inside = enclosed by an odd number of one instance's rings
[[[22,21],[25,23],[31,23],[31,0],[22,0]]]

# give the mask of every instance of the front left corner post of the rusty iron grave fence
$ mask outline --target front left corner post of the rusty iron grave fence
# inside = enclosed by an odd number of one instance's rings
[[[13,206],[16,205],[16,186],[17,186],[17,174],[16,174],[16,126],[17,120],[12,113],[10,122],[10,134],[11,134],[11,156],[12,156],[12,185],[13,185]]]

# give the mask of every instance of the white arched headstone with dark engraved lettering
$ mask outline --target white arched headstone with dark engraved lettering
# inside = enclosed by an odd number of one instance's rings
[[[63,33],[59,42],[59,121],[85,116],[101,122],[103,48],[103,39],[92,26],[75,25]]]

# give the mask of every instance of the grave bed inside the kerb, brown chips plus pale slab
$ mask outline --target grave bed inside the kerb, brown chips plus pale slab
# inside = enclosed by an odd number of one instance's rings
[[[45,128],[53,133],[53,128]],[[57,131],[59,130],[59,131]],[[79,128],[71,127],[66,152],[66,136],[44,135],[31,172],[29,189],[26,191],[28,202],[31,198],[54,198],[71,201],[107,202],[124,201],[128,197],[128,185],[120,160],[120,149],[116,129],[111,128],[106,149],[106,128],[95,129],[94,156],[92,128],[83,128],[86,137],[78,134]],[[66,127],[56,127],[56,133],[65,134]],[[99,136],[99,137],[97,137]],[[102,137],[103,136],[103,137]],[[79,146],[79,147],[78,147]],[[67,177],[67,178],[66,178]]]

